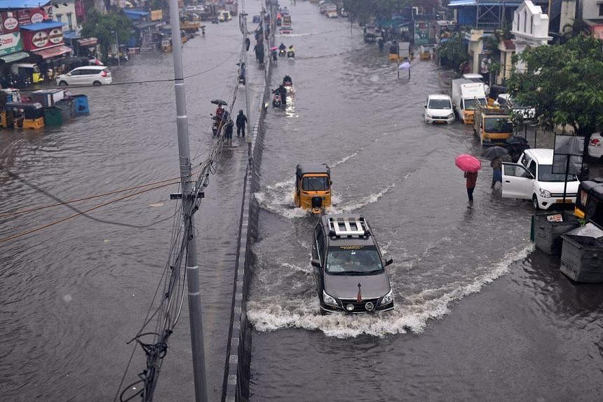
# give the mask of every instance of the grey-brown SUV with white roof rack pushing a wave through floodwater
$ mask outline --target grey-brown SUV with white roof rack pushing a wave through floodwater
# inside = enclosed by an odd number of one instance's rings
[[[360,215],[323,215],[314,229],[311,265],[320,314],[374,313],[393,309],[384,260],[368,222]]]

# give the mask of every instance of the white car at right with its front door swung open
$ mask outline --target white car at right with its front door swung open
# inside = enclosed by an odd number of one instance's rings
[[[517,163],[503,162],[503,198],[531,199],[535,209],[563,203],[565,175],[552,170],[553,149],[526,149]],[[576,203],[579,184],[567,176],[566,203]]]

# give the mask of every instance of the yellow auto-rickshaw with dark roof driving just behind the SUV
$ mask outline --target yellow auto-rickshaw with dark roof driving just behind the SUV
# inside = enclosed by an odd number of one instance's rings
[[[297,165],[295,170],[295,204],[320,213],[331,206],[331,170],[323,164]]]

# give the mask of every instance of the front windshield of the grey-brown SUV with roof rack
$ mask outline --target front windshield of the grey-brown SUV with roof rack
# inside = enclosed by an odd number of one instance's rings
[[[339,246],[329,248],[326,271],[332,275],[374,275],[384,268],[375,246]]]

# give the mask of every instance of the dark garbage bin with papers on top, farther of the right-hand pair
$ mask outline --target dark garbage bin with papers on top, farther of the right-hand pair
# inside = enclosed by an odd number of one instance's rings
[[[550,255],[561,253],[561,235],[580,226],[576,215],[567,212],[537,213],[534,215],[536,248]]]

